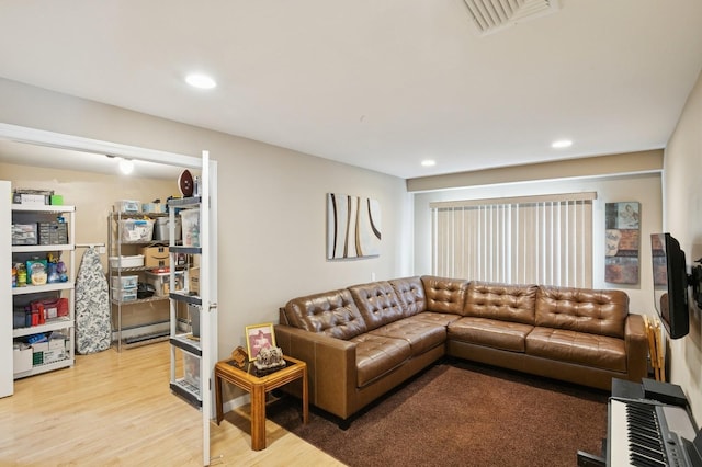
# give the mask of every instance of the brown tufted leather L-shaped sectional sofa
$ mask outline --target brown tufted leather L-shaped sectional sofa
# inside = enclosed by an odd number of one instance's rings
[[[298,297],[278,345],[310,402],[342,420],[444,355],[611,388],[647,372],[643,317],[621,291],[405,277]]]

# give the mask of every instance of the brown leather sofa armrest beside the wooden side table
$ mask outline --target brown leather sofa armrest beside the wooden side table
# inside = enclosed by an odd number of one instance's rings
[[[285,355],[307,364],[309,401],[347,419],[355,390],[355,343],[285,324],[275,326],[275,342]]]

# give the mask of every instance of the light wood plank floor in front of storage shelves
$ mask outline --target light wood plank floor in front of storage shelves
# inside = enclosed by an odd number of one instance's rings
[[[168,342],[110,349],[14,381],[0,399],[0,466],[202,465],[201,412],[171,394],[169,355]],[[211,465],[342,465],[271,421],[268,448],[251,451],[248,410],[211,424]]]

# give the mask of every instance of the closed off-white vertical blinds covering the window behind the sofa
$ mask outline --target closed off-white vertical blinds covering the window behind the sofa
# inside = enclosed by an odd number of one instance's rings
[[[596,193],[431,203],[432,273],[592,286]]]

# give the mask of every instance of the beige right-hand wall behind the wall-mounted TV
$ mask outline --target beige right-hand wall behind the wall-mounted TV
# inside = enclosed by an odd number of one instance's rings
[[[664,159],[664,226],[686,252],[702,258],[702,75],[690,93]],[[670,342],[672,383],[684,389],[702,420],[702,319],[692,305],[690,334]]]

